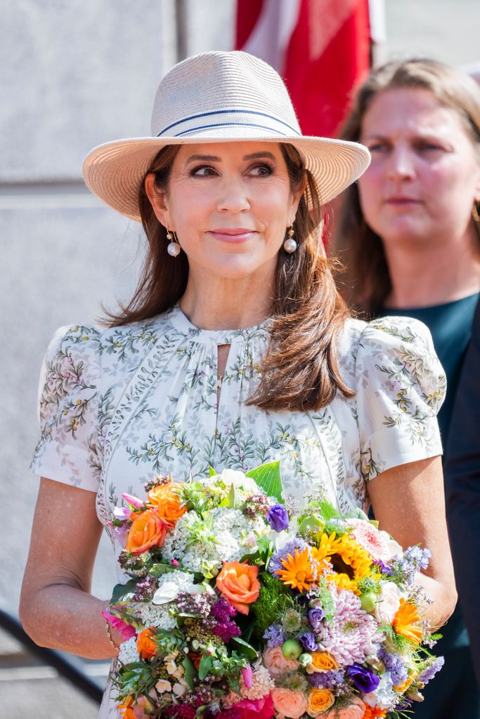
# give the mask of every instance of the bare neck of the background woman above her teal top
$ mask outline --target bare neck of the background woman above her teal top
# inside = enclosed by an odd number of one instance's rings
[[[468,242],[384,243],[391,278],[386,306],[429,307],[479,292],[477,244],[476,237]]]

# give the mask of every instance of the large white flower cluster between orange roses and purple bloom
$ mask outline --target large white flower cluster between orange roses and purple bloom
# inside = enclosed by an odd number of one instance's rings
[[[201,572],[206,564],[212,569],[219,569],[222,562],[238,561],[244,554],[253,553],[257,548],[255,533],[268,533],[269,529],[261,519],[252,521],[238,509],[217,507],[209,513],[212,519],[211,533],[216,543],[196,541],[191,544],[193,514],[184,514],[178,520],[162,546],[166,561],[176,559],[191,572]]]

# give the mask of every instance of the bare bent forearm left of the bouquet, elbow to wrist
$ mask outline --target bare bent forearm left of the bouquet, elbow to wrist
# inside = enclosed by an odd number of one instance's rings
[[[22,602],[20,617],[24,630],[40,646],[60,649],[88,659],[116,656],[107,636],[101,611],[107,601],[66,584],[42,587]],[[111,629],[114,644],[121,641]]]

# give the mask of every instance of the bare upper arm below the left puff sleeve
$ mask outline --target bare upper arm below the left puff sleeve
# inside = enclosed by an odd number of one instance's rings
[[[89,592],[102,526],[96,493],[42,477],[22,603],[42,587],[67,584]]]

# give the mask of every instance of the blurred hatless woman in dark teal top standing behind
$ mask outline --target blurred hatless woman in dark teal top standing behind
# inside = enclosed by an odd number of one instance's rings
[[[429,327],[447,375],[438,415],[445,447],[480,290],[480,89],[434,60],[388,63],[358,89],[342,137],[363,142],[372,162],[340,208],[341,290],[364,316],[410,316]],[[400,363],[392,381],[405,369]],[[452,551],[469,561],[468,547]],[[471,582],[480,590],[478,574]],[[435,648],[445,655],[443,682],[427,687],[415,719],[480,717],[459,610],[443,634]]]

